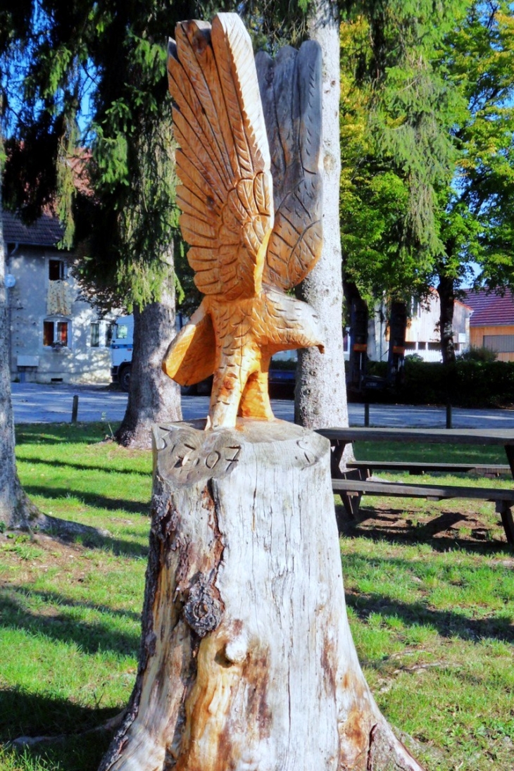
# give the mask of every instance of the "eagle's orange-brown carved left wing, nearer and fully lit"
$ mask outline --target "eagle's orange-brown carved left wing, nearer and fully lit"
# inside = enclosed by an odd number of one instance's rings
[[[195,284],[227,300],[260,291],[273,226],[270,152],[250,37],[236,14],[181,22],[168,48],[176,190]]]

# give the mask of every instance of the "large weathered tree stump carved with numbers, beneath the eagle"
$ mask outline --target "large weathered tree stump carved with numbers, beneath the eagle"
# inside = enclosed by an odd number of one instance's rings
[[[154,429],[139,672],[100,768],[420,771],[348,628],[328,440]]]

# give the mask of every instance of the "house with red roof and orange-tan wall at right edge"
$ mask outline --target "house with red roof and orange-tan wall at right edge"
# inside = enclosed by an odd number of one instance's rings
[[[469,340],[475,348],[496,351],[501,362],[514,362],[514,298],[485,290],[466,292],[472,308]]]

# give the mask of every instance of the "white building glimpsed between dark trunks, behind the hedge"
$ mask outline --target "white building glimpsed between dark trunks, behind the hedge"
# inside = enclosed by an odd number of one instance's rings
[[[408,309],[407,328],[405,330],[405,355],[417,354],[425,362],[442,362],[441,334],[439,316],[441,303],[438,292],[432,289],[427,299],[412,299]],[[455,300],[453,308],[453,329],[455,353],[465,352],[470,345],[470,316],[472,309],[466,302]],[[389,328],[386,323],[385,308],[375,308],[375,315],[368,326],[368,356],[370,359],[388,359]]]

